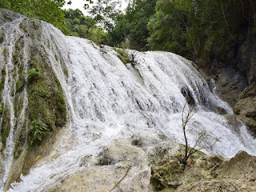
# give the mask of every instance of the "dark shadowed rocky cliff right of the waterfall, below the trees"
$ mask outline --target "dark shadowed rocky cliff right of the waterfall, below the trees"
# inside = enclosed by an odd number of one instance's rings
[[[223,52],[218,46],[200,62],[201,70],[214,78],[216,93],[233,107],[234,113],[256,134],[256,35],[236,42]],[[204,63],[203,65],[200,63]]]

